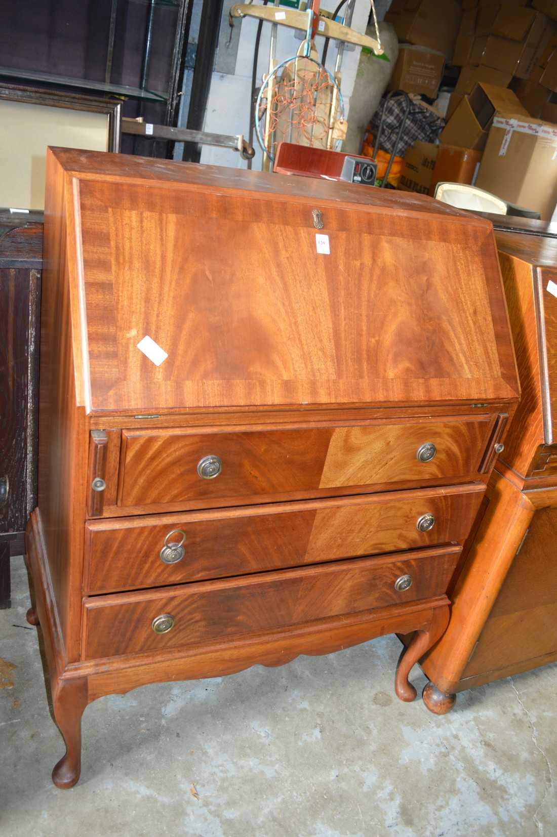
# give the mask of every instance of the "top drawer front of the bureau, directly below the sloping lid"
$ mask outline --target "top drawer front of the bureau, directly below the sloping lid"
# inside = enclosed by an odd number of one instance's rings
[[[121,506],[187,503],[199,499],[281,495],[354,486],[472,478],[493,424],[490,416],[458,421],[255,430],[235,433],[122,433]],[[423,444],[436,446],[420,462]],[[206,456],[221,473],[203,479]]]

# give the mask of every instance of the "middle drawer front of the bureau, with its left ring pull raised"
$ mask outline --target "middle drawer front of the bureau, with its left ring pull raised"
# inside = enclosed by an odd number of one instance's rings
[[[482,500],[482,483],[442,490],[392,491],[174,516],[89,521],[85,593],[257,573],[338,558],[463,542]],[[435,524],[420,531],[431,514]],[[186,536],[183,557],[161,560],[173,530]],[[179,542],[176,533],[169,542]]]

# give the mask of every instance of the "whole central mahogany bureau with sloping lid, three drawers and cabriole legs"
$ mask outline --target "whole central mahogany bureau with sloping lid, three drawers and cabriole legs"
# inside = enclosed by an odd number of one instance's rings
[[[157,680],[415,632],[412,700],[518,398],[491,223],[88,151],[47,177],[27,552],[54,783],[85,706]]]

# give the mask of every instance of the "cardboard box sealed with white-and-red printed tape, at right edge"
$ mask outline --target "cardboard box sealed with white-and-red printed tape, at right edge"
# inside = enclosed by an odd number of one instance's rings
[[[476,185],[549,221],[557,202],[557,126],[495,116]]]

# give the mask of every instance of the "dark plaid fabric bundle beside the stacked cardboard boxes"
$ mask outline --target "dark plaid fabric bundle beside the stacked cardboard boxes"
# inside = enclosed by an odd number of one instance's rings
[[[369,130],[375,135],[379,128],[385,99],[386,95],[379,102],[379,107],[369,123]],[[387,104],[383,126],[381,127],[381,136],[379,137],[379,146],[389,154],[395,151],[396,135],[400,128],[400,122],[405,118],[405,109],[405,96],[397,93],[393,94]],[[410,112],[400,135],[400,142],[396,149],[397,156],[404,157],[406,149],[414,145],[416,140],[435,142],[444,126],[445,120],[441,116],[437,116],[431,108],[419,99],[410,96]]]

